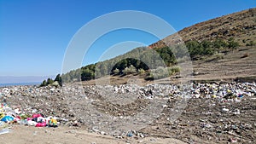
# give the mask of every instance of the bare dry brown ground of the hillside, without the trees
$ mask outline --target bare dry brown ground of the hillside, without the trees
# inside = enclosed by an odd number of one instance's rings
[[[178,38],[177,34],[179,35]],[[212,20],[203,21],[153,43],[151,49],[166,48],[168,43],[184,43],[192,41],[227,41],[233,38],[239,43],[236,49],[220,49],[214,55],[202,55],[199,60],[193,60],[194,81],[256,81],[256,9],[224,15]],[[172,45],[172,44],[171,44]],[[186,44],[187,45],[187,44]],[[188,45],[187,45],[188,48]],[[214,48],[213,49],[217,49]],[[205,49],[206,50],[206,49]],[[191,53],[190,53],[191,55]],[[192,55],[191,55],[192,56]],[[171,77],[172,83],[178,83],[180,78]],[[160,84],[170,83],[170,78],[156,81]]]

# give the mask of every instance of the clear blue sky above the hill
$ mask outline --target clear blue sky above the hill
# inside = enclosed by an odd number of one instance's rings
[[[144,11],[166,20],[178,31],[197,22],[255,7],[255,0],[0,0],[0,76],[61,73],[73,35],[102,14]],[[89,50],[83,65],[95,63],[104,49],[114,43],[150,44],[157,40],[134,30],[110,32]]]

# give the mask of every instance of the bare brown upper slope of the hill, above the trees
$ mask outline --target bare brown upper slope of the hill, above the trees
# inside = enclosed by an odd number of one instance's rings
[[[183,30],[164,38],[163,40],[149,45],[149,48],[162,48],[165,43],[179,43],[177,34],[183,42],[189,40],[214,40],[229,39],[234,37],[241,46],[256,39],[256,8],[247,9],[234,14],[227,14],[212,20],[207,20],[194,26],[189,26]],[[164,42],[163,42],[164,41]]]

